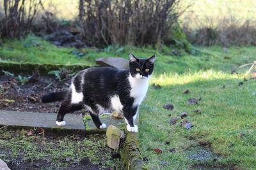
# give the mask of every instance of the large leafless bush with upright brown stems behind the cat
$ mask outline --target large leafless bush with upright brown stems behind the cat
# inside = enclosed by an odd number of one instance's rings
[[[102,45],[156,44],[177,22],[179,0],[80,0],[82,35]]]

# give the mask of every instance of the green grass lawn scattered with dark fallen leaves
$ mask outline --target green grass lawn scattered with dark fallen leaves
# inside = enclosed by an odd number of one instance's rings
[[[83,57],[77,57],[73,50],[76,49],[56,47],[29,36],[24,41],[4,41],[0,46],[0,58],[15,62],[95,66],[97,57],[127,58],[129,53],[150,57],[156,54],[154,75],[140,107],[141,152],[149,169],[188,169],[195,164],[242,169],[256,167],[256,82],[250,78],[243,80],[248,67],[237,69],[255,60],[255,47],[197,47],[196,55],[180,51],[182,56],[173,55],[173,48],[166,46],[157,50],[152,46],[83,49]],[[235,69],[238,74],[231,74]],[[152,83],[161,85],[161,89],[154,89]],[[190,92],[184,94],[185,90]],[[202,100],[198,104],[188,103],[188,99],[200,97]],[[168,103],[173,104],[172,111],[163,109]],[[197,114],[195,110],[202,113]],[[169,120],[180,117],[182,112],[188,113],[188,117],[170,125]],[[184,120],[195,126],[191,129],[180,126]],[[166,145],[166,141],[170,143]],[[207,142],[207,146],[200,146],[202,142]],[[154,148],[163,153],[154,152]],[[168,152],[170,148],[175,148],[175,152]],[[214,156],[198,162],[193,155],[198,155],[201,149]]]

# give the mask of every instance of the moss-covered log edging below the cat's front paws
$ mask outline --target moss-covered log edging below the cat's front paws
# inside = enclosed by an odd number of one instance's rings
[[[143,158],[141,157],[138,133],[127,132],[127,136],[121,150],[121,159],[124,169],[148,169],[143,163]]]

